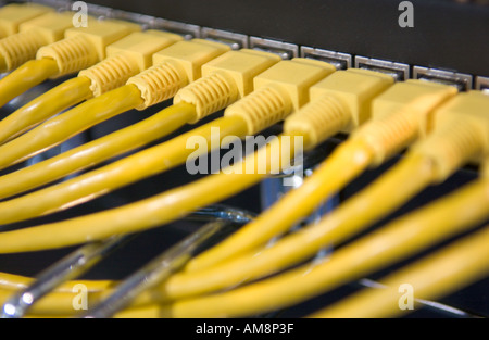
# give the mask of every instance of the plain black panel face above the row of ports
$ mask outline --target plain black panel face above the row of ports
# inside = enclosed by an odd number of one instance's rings
[[[489,76],[489,5],[413,0],[401,28],[400,0],[92,0],[190,23],[396,62]]]

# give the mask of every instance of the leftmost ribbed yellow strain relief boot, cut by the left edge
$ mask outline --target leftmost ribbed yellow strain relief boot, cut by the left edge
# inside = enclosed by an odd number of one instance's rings
[[[4,60],[5,70],[12,71],[36,58],[36,53],[48,42],[34,29],[21,32],[0,40],[0,54]]]

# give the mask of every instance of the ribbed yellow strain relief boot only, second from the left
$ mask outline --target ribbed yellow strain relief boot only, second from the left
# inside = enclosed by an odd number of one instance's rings
[[[83,35],[41,47],[37,52],[37,59],[42,58],[57,62],[59,73],[53,78],[77,73],[92,66],[98,61],[96,49]]]

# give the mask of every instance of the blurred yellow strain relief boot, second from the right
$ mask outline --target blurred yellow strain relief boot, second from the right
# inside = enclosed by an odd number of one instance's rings
[[[419,119],[410,110],[410,105],[404,106],[396,113],[365,123],[352,133],[352,139],[363,139],[372,148],[372,166],[383,164],[419,136]]]

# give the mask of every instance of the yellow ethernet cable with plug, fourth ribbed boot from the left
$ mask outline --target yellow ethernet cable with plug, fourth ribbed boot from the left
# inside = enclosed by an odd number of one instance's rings
[[[1,146],[0,168],[58,146],[120,113],[145,110],[174,97],[180,88],[201,77],[202,64],[229,49],[224,43],[193,39],[178,41],[154,53],[154,66],[130,77],[126,85],[92,98]],[[90,72],[84,74],[90,75]]]

